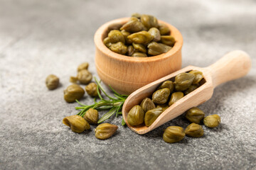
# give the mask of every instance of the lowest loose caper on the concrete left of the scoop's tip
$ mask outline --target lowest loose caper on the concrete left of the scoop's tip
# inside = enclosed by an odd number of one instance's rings
[[[117,132],[118,126],[110,123],[102,123],[95,129],[95,137],[99,140],[106,140]]]

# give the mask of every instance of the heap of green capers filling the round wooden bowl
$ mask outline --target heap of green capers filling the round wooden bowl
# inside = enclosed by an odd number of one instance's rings
[[[145,14],[134,13],[127,23],[114,23],[107,31],[104,44],[113,52],[130,57],[161,55],[175,44],[169,27]]]

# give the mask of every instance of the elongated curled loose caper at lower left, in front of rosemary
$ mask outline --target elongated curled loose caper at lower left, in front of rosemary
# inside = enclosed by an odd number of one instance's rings
[[[71,128],[73,132],[83,132],[90,129],[89,123],[80,115],[70,115],[63,118],[63,124]]]

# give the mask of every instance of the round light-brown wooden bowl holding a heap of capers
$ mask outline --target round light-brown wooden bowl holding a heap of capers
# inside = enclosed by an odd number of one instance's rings
[[[181,47],[183,38],[177,28],[164,23],[171,30],[176,42],[174,47],[154,57],[129,57],[108,49],[104,43],[108,26],[112,23],[127,23],[129,18],[119,18],[102,25],[95,33],[95,65],[97,74],[106,84],[120,94],[131,94],[146,84],[181,69]]]

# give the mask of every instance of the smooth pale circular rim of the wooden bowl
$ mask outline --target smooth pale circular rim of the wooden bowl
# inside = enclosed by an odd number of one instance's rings
[[[174,36],[174,38],[176,39],[174,47],[171,50],[169,50],[169,52],[166,52],[161,55],[156,55],[153,57],[129,57],[126,55],[119,55],[116,52],[112,52],[112,50],[107,48],[106,45],[103,43],[103,35],[105,35],[108,26],[110,26],[112,23],[126,23],[127,21],[129,21],[128,17],[118,18],[100,26],[100,28],[98,28],[97,31],[95,32],[95,37],[94,37],[95,46],[97,47],[97,49],[100,50],[102,53],[106,54],[108,57],[112,57],[114,60],[122,60],[125,62],[155,62],[157,60],[164,60],[166,57],[174,56],[176,52],[181,50],[181,47],[183,45],[183,38],[179,30],[174,26],[171,26],[171,24],[159,20],[159,23],[163,23],[169,27],[169,29],[171,30],[171,35]]]

